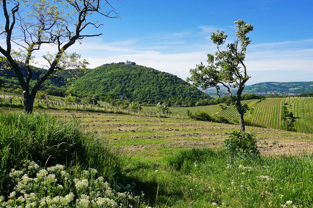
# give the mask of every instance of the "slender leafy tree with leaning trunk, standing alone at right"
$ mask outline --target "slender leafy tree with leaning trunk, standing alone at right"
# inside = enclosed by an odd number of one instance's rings
[[[234,23],[238,28],[235,33],[237,38],[234,43],[228,43],[226,48],[224,48],[222,45],[225,44],[227,38],[225,32],[217,30],[216,33],[212,33],[210,39],[217,45],[218,49],[215,57],[212,54],[208,54],[208,66],[201,63],[195,69],[191,69],[191,78],[187,78],[187,81],[192,81],[194,87],[201,86],[202,89],[215,87],[218,96],[220,96],[219,85],[226,87],[238,111],[240,131],[244,131],[245,124],[241,94],[245,87],[244,84],[250,78],[244,65],[244,58],[247,46],[251,42],[247,34],[254,27],[250,23],[246,24],[243,20],[237,20]],[[233,95],[231,88],[238,89],[236,95]]]

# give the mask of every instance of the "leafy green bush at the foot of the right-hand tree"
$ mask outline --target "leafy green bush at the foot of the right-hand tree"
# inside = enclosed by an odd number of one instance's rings
[[[240,157],[255,157],[260,155],[256,142],[254,134],[235,130],[224,140],[223,148]]]

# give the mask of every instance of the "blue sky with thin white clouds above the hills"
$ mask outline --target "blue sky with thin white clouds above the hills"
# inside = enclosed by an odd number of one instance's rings
[[[82,54],[90,68],[131,60],[186,80],[190,68],[216,51],[211,33],[220,28],[232,42],[233,22],[243,19],[254,26],[245,60],[252,76],[247,84],[313,81],[313,1],[110,2],[121,19],[94,16],[104,26],[86,34],[103,35],[69,50]]]

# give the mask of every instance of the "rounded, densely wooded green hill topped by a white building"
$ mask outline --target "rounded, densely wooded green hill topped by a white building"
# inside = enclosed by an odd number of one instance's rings
[[[137,102],[197,101],[209,96],[176,75],[141,65],[105,64],[73,81],[72,94],[110,95]]]

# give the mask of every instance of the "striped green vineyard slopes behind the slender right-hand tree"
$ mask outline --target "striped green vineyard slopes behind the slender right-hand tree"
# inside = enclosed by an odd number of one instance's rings
[[[297,132],[313,133],[313,98],[266,98],[243,100],[250,110],[244,116],[246,123],[252,126],[279,129],[282,119],[282,106],[287,104],[295,116],[295,129]],[[148,108],[148,107],[147,107]],[[155,110],[156,107],[148,109]],[[210,116],[223,116],[233,122],[237,118],[237,109],[234,105],[217,104],[208,106],[169,108],[171,113],[178,117],[186,117],[186,110],[195,113],[198,110]]]

